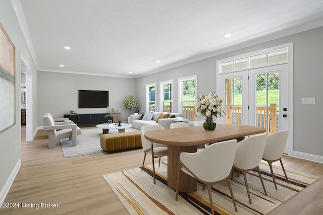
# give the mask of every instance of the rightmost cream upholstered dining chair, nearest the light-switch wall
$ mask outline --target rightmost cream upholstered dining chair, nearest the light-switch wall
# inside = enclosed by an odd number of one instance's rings
[[[271,135],[268,135],[266,140],[266,146],[264,148],[264,152],[262,155],[262,160],[268,162],[269,167],[271,168],[272,177],[273,177],[276,189],[277,189],[277,184],[276,184],[273,165],[272,165],[272,163],[275,161],[279,160],[281,162],[286,181],[287,183],[289,183],[286,175],[286,171],[282,162],[282,155],[284,153],[284,150],[287,144],[287,138],[288,138],[288,130],[281,130],[281,131],[272,133]]]

